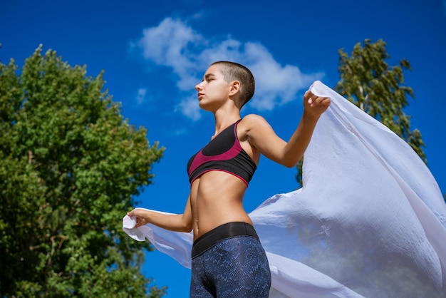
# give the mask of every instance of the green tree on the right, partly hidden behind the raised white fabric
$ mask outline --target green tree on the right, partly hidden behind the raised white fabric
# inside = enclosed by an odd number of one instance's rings
[[[403,112],[408,106],[406,96],[413,98],[412,88],[405,86],[403,71],[411,70],[409,61],[402,59],[397,66],[389,66],[390,58],[383,40],[373,43],[365,39],[356,43],[351,56],[338,51],[338,72],[341,80],[335,90],[361,110],[379,120],[405,140],[427,163],[419,130],[410,130],[410,115]],[[296,180],[302,185],[302,163],[297,165]]]

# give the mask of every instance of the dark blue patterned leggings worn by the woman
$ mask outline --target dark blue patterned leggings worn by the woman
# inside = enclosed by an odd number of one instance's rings
[[[217,229],[222,230],[227,225]],[[254,227],[244,222],[231,222],[229,225],[247,225],[254,231]],[[265,251],[255,231],[254,235],[250,232],[241,234],[244,235],[232,233],[231,237],[217,240],[216,244],[209,242],[212,246],[197,254],[192,249],[190,297],[268,297],[271,272]],[[204,239],[200,237],[200,241],[206,241],[207,234],[203,236]]]

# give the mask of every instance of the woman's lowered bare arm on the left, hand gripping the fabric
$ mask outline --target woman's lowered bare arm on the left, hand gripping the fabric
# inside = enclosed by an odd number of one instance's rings
[[[165,230],[175,232],[190,232],[192,231],[192,211],[190,207],[190,196],[187,199],[185,212],[182,214],[168,215],[159,212],[154,212],[145,209],[133,209],[127,213],[130,217],[136,217],[135,227],[140,227],[151,223],[157,225]]]

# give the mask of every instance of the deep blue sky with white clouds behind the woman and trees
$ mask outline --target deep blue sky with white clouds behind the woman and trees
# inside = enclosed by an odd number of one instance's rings
[[[186,163],[214,133],[212,115],[199,111],[194,86],[212,61],[251,68],[256,93],[242,114],[259,113],[288,139],[299,123],[301,98],[318,79],[335,86],[338,49],[370,38],[388,43],[390,65],[402,58],[415,100],[405,113],[427,147],[429,168],[446,192],[443,111],[446,86],[445,0],[339,1],[2,1],[0,60],[23,65],[39,44],[89,76],[105,71],[106,88],[130,123],[147,128],[165,155],[140,206],[182,212],[188,195]],[[398,152],[395,152],[398,154]],[[123,157],[125,158],[125,157]],[[245,207],[296,188],[296,170],[260,161]],[[333,173],[336,175],[336,173]],[[124,215],[124,212],[123,212]],[[167,285],[167,297],[187,297],[190,271],[159,252],[144,272]]]

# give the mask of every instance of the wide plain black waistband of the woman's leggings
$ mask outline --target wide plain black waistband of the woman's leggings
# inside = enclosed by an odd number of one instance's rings
[[[247,222],[228,222],[204,233],[192,245],[192,258],[209,250],[220,240],[235,236],[250,236],[259,240],[256,230]]]

